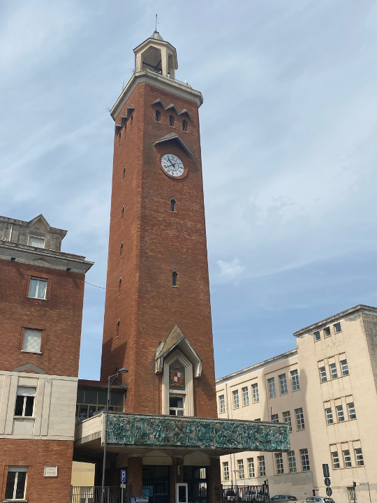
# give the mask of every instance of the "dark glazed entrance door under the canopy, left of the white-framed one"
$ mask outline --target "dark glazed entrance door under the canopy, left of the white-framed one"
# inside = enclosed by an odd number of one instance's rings
[[[148,466],[142,469],[142,495],[149,503],[170,503],[168,466]]]

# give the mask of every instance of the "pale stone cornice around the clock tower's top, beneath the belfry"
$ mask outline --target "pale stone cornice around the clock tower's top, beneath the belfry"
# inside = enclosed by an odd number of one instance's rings
[[[110,115],[114,120],[117,119],[121,109],[127,103],[136,86],[138,84],[142,84],[143,82],[154,87],[158,87],[158,89],[168,91],[172,94],[177,94],[177,96],[180,96],[181,98],[193,101],[198,107],[200,107],[203,103],[202,93],[200,91],[195,91],[195,89],[190,87],[188,84],[170,79],[165,77],[165,75],[160,75],[159,73],[153,71],[144,70],[133,73],[131,79],[128,80],[126,87],[124,87],[121,92],[121,95],[114,103],[114,106],[110,110]]]

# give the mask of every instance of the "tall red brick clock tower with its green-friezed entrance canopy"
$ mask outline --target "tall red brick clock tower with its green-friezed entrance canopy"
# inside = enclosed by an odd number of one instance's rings
[[[108,421],[106,485],[119,483],[125,468],[128,497],[222,502],[219,457],[257,446],[288,449],[288,429],[281,425],[275,433],[276,425],[217,418],[202,94],[175,80],[177,52],[157,31],[134,52],[135,72],[111,110],[114,168],[101,364],[102,382],[128,369],[117,381],[118,389],[126,388],[124,412],[110,407],[108,419],[102,414],[77,425],[75,455],[82,460],[91,453],[101,462]],[[279,441],[265,442],[270,434]]]

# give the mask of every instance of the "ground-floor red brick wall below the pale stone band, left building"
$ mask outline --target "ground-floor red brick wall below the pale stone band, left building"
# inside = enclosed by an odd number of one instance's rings
[[[0,439],[0,495],[5,499],[8,466],[27,466],[28,503],[69,503],[73,442]],[[45,465],[57,465],[57,477],[45,477]]]

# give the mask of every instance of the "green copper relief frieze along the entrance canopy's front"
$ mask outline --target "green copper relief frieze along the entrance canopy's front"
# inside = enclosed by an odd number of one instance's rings
[[[135,414],[109,414],[108,443],[244,451],[290,449],[286,425]]]

